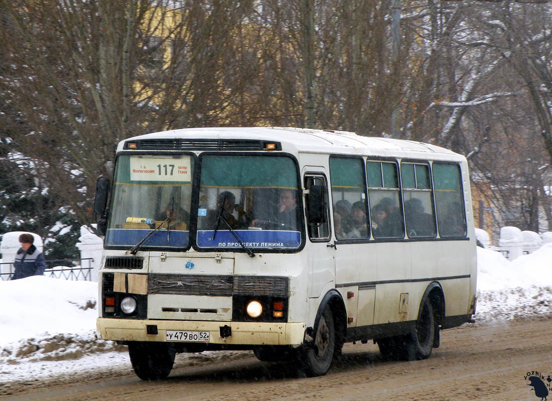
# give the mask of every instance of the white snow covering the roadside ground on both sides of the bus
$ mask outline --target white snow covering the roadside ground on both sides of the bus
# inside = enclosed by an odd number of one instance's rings
[[[477,258],[477,321],[550,314],[552,244],[512,262],[477,247]],[[47,277],[0,281],[0,383],[106,366],[130,368],[128,354],[121,352],[125,347],[95,338],[97,297],[93,282]],[[201,357],[219,358],[220,352]]]

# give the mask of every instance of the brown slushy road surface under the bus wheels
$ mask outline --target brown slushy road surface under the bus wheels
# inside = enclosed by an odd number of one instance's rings
[[[442,332],[425,361],[386,362],[376,346],[344,347],[326,376],[301,378],[286,365],[241,352],[226,360],[185,358],[166,381],[143,382],[128,369],[29,384],[18,401],[536,400],[528,371],[552,373],[552,319],[464,325]]]

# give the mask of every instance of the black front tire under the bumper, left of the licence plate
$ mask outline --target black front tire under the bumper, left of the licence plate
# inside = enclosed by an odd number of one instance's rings
[[[132,369],[142,380],[160,380],[171,373],[176,351],[169,342],[129,343],[129,356]]]

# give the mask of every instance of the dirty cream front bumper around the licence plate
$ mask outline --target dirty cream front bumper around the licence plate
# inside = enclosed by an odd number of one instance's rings
[[[147,334],[146,325],[157,326],[157,334]],[[97,331],[103,340],[112,341],[161,341],[167,330],[209,331],[208,343],[225,345],[301,345],[305,336],[305,323],[252,323],[234,321],[190,320],[136,320],[98,318]],[[220,328],[229,326],[232,335],[220,336]]]

